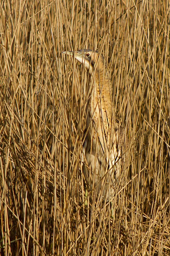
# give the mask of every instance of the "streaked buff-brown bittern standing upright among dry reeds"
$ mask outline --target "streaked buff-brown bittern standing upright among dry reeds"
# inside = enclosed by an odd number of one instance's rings
[[[97,51],[63,52],[74,56],[88,73],[86,138],[83,144],[87,188],[96,189],[102,200],[112,202],[116,179],[121,174],[125,136],[113,104],[105,58]]]

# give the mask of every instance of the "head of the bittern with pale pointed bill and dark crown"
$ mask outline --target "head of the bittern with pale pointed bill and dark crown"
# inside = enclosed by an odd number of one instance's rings
[[[89,70],[89,72],[92,74],[92,71],[95,68],[95,64],[99,63],[100,65],[104,63],[104,58],[102,55],[100,55],[100,59],[99,59],[99,53],[97,51],[93,51],[93,50],[86,50],[86,49],[82,49],[79,50],[77,52],[73,52],[73,51],[65,51],[63,52],[64,54],[67,55],[71,55],[83,64],[83,66],[85,67],[86,70]],[[98,60],[99,59],[99,60]],[[105,65],[106,68],[106,65]],[[96,69],[98,69],[96,67]]]

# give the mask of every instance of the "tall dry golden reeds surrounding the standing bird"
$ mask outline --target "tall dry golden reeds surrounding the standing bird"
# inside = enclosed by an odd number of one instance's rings
[[[98,49],[129,134],[110,207],[84,205],[86,74]],[[1,1],[1,255],[170,255],[170,3]]]

